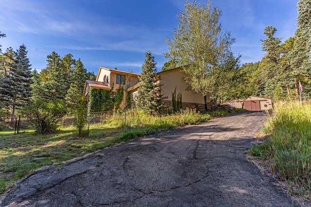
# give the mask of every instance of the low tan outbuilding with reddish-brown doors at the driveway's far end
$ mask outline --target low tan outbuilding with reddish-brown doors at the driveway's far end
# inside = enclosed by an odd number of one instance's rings
[[[245,108],[249,111],[269,110],[272,108],[272,99],[260,96],[250,96],[247,99],[235,99],[223,103],[234,108]]]

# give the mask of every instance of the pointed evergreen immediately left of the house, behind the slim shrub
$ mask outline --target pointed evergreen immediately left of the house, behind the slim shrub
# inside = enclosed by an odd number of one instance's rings
[[[77,104],[82,97],[84,85],[86,82],[86,69],[80,58],[75,63],[73,74],[71,76],[71,84],[66,95],[66,103],[69,107]]]

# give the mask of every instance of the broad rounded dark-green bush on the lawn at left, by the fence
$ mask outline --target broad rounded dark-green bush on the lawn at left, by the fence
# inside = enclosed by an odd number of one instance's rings
[[[25,106],[22,113],[32,120],[31,124],[36,133],[55,133],[60,118],[65,114],[65,104],[62,100],[50,102],[37,100],[34,104]]]

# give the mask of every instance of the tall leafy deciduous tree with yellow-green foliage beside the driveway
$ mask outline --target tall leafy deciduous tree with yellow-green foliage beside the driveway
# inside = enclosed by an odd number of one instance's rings
[[[195,92],[202,94],[207,110],[207,95],[217,97],[216,82],[226,84],[226,79],[216,80],[218,72],[232,61],[231,44],[235,41],[230,33],[221,33],[219,17],[221,10],[213,8],[211,0],[207,5],[186,1],[185,9],[178,15],[179,25],[174,30],[173,40],[166,39],[169,52],[165,58],[173,58],[177,66],[188,65],[183,71],[185,81]],[[220,69],[220,70],[218,70]]]

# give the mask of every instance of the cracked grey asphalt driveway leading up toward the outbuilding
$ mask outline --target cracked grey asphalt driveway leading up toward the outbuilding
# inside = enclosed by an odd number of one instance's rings
[[[38,170],[1,207],[300,206],[247,161],[264,119],[233,114]]]

